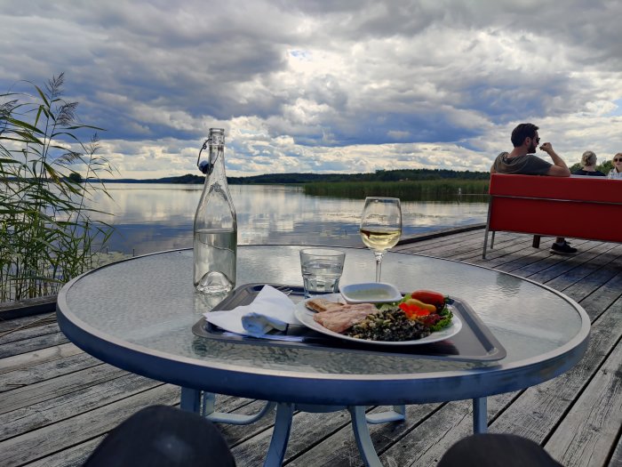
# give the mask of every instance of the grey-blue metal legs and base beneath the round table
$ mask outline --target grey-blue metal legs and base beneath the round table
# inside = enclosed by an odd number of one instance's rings
[[[365,414],[364,406],[320,406],[267,401],[266,405],[256,414],[237,415],[217,412],[214,402],[215,395],[211,392],[181,388],[181,409],[203,414],[207,419],[211,420],[211,422],[235,425],[251,424],[257,422],[260,418],[267,415],[273,407],[276,407],[275,428],[272,433],[272,439],[270,440],[270,447],[267,450],[264,467],[278,467],[283,464],[285,450],[287,449],[287,443],[290,439],[291,420],[296,410],[323,413],[347,409],[352,419],[352,430],[355,434],[356,446],[358,447],[366,467],[382,467],[378,453],[376,453],[376,448],[371,442],[368,423],[402,422],[406,419],[405,406],[394,406],[393,410],[367,415]],[[485,433],[487,428],[486,398],[473,399],[473,432]]]

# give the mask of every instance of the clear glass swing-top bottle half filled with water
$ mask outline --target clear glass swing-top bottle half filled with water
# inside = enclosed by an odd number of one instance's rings
[[[201,151],[209,145],[208,160]],[[196,161],[205,174],[195,213],[194,282],[203,294],[224,295],[235,287],[237,220],[225,173],[225,130],[210,128]]]

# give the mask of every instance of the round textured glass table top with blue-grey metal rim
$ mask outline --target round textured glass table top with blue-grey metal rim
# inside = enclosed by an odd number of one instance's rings
[[[301,286],[301,246],[239,246],[237,285]],[[372,282],[371,251],[347,252],[341,284]],[[116,262],[62,288],[62,331],[79,347],[137,374],[254,399],[390,405],[472,399],[546,381],[586,350],[589,318],[570,298],[527,279],[462,262],[387,253],[382,280],[467,302],[507,351],[494,362],[287,349],[192,333],[218,300],[195,293],[192,250]]]

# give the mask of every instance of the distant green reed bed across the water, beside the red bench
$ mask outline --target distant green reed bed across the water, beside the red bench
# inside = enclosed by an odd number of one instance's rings
[[[303,185],[306,195],[326,197],[399,197],[404,201],[446,200],[488,194],[488,180],[339,181]]]

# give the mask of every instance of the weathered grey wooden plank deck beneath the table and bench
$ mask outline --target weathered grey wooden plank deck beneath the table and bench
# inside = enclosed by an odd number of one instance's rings
[[[533,439],[562,464],[622,465],[622,245],[575,240],[563,257],[531,238],[499,232],[488,261],[483,230],[398,246],[397,250],[484,265],[551,286],[592,319],[586,357],[566,374],[526,391],[491,397],[489,430]],[[543,312],[546,312],[544,310]],[[68,342],[53,314],[0,322],[0,465],[80,465],[105,434],[150,404],[179,404],[179,389],[101,363]],[[251,413],[258,402],[219,398]],[[378,410],[371,408],[371,410]],[[221,425],[239,466],[261,465],[272,417],[251,427]],[[405,423],[371,425],[385,465],[435,465],[472,431],[470,401],[408,407]],[[285,464],[357,466],[346,412],[295,415]]]

